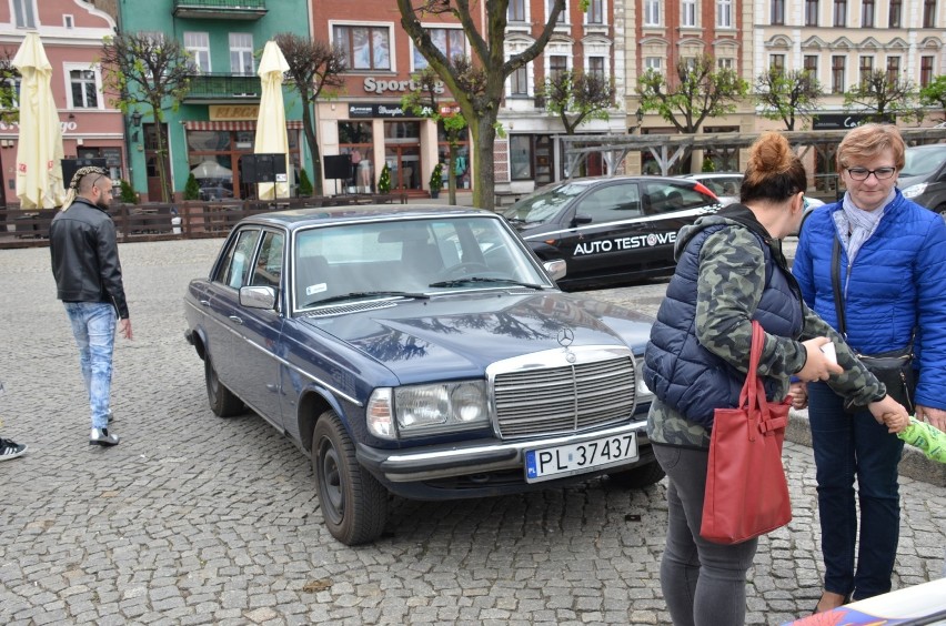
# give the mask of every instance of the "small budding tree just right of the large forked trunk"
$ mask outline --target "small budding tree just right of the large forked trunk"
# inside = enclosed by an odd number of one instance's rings
[[[614,83],[597,74],[558,72],[545,81],[545,108],[558,115],[566,134],[590,120],[607,120],[614,107]]]

